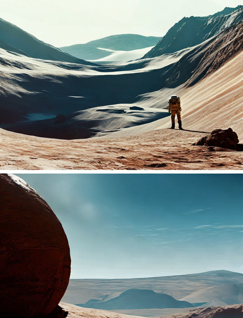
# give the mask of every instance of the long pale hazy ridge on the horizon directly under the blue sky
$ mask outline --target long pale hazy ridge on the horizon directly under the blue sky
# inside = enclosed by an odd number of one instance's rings
[[[222,270],[133,279],[71,279],[62,301],[77,304],[84,303],[91,298],[109,300],[129,288],[152,289],[155,292],[170,294],[175,299],[182,299],[186,295],[206,287],[242,283],[243,274]]]

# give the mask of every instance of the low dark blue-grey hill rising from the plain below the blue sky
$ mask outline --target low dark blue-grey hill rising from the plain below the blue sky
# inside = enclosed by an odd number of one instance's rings
[[[128,289],[118,297],[108,301],[88,301],[78,306],[96,309],[146,309],[146,308],[188,308],[193,305],[187,301],[178,301],[172,296],[155,293],[150,289]]]

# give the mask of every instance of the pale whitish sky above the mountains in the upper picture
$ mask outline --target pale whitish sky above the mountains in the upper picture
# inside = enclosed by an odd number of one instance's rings
[[[240,0],[2,0],[0,17],[54,46],[134,33],[163,36],[184,16],[206,16]]]

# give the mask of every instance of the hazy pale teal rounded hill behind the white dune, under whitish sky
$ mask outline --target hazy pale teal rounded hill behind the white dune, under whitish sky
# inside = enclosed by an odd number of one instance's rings
[[[63,46],[60,47],[60,49],[79,59],[96,60],[104,58],[112,53],[98,48],[113,51],[133,51],[154,46],[160,39],[161,37],[145,37],[139,34],[117,34],[90,41],[85,44]]]

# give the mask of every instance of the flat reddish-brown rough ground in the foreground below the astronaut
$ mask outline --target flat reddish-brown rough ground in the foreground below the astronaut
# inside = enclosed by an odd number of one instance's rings
[[[139,135],[114,138],[111,134],[68,141],[0,129],[0,169],[243,168],[242,152],[192,146],[203,135],[206,134],[162,128]]]

